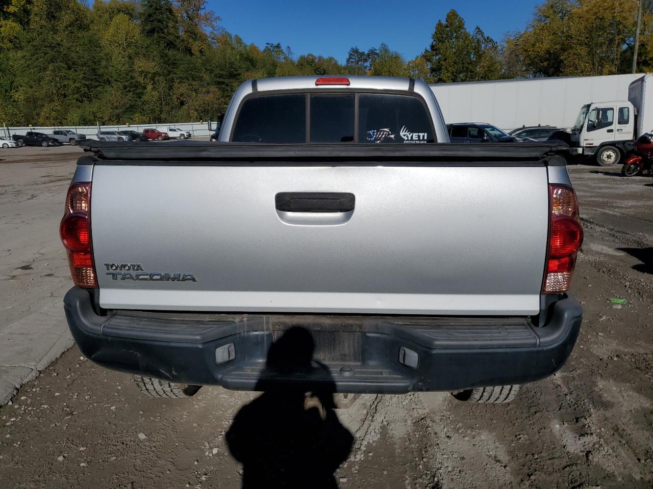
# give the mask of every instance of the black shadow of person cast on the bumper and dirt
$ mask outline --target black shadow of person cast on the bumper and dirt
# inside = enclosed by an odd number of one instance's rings
[[[314,349],[311,333],[300,327],[270,346],[256,385],[263,394],[238,411],[226,434],[229,451],[243,464],[243,489],[338,487],[334,473],[354,437],[336,417],[333,380],[310,381],[316,374],[330,378],[326,366],[313,361]],[[306,381],[279,384],[298,373]]]

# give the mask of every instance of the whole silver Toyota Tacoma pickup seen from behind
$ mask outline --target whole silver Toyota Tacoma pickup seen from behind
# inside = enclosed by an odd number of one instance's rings
[[[449,143],[422,82],[248,81],[217,143],[82,147],[65,312],[84,355],[152,396],[505,402],[577,339],[564,148]]]

